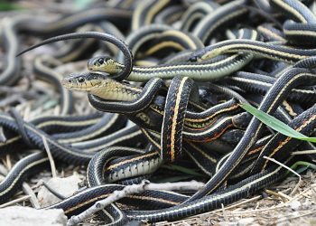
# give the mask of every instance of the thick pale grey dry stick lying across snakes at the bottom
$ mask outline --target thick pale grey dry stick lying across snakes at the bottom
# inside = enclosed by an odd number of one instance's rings
[[[93,206],[88,208],[85,212],[81,212],[77,216],[72,216],[68,221],[68,226],[73,226],[78,224],[90,217],[95,212],[103,210],[107,205],[116,202],[119,199],[126,197],[127,195],[134,193],[144,193],[146,190],[177,190],[177,191],[188,191],[188,190],[200,190],[204,187],[204,183],[191,181],[191,182],[178,182],[178,183],[163,183],[163,184],[153,184],[149,181],[144,180],[141,184],[127,185],[121,191],[115,191],[107,196],[106,199],[95,202]]]

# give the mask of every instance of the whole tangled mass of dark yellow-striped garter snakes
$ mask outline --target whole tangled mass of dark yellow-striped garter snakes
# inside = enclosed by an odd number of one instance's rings
[[[87,172],[78,193],[46,207],[68,217],[144,180],[205,183],[199,191],[127,195],[98,212],[111,225],[210,212],[283,181],[287,169],[269,159],[287,166],[316,159],[312,143],[241,108],[315,137],[312,0],[96,1],[53,20],[16,14],[1,27],[0,85],[35,74],[58,90],[60,106],[31,120],[15,108],[0,112],[0,153],[21,156],[0,183],[1,203],[50,170],[47,146],[57,167]],[[52,51],[30,58],[43,45]],[[83,71],[54,70],[79,60]],[[26,64],[32,70],[23,71]],[[72,113],[79,92],[92,113]]]

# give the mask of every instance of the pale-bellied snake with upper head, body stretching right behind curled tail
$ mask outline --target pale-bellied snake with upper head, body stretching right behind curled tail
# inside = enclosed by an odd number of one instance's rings
[[[239,37],[251,40],[257,39],[257,33],[252,30],[242,29]],[[199,52],[199,51],[198,51]],[[251,54],[223,55],[218,58],[200,63],[177,62],[166,63],[152,67],[133,67],[126,80],[146,81],[153,77],[163,80],[172,79],[176,75],[187,76],[193,80],[218,80],[229,73],[238,70],[252,59]],[[88,61],[89,71],[117,73],[122,71],[125,65],[118,63],[109,57],[96,57]]]

